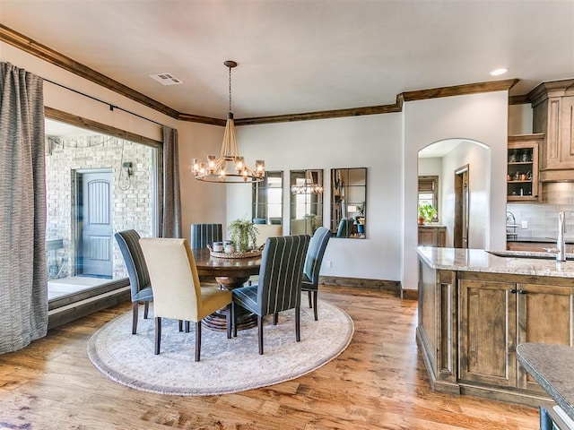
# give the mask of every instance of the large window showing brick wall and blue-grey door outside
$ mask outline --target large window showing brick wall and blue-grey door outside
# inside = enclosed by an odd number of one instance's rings
[[[111,132],[111,130],[109,130]],[[159,142],[132,142],[46,119],[48,306],[120,288],[114,233],[156,231]]]

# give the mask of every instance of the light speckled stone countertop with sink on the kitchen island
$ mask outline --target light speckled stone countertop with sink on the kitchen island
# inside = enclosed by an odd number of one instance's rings
[[[447,271],[482,271],[516,275],[555,276],[574,278],[574,254],[566,254],[569,261],[556,262],[553,254],[524,251],[500,251],[493,255],[482,249],[435,248],[419,246],[420,258],[433,269]],[[528,256],[538,258],[526,258]],[[542,259],[541,257],[550,257]]]

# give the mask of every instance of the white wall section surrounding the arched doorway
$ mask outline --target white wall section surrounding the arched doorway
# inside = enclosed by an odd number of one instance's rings
[[[486,248],[504,249],[506,241],[506,150],[508,91],[411,101],[403,106],[403,288],[417,288],[417,152],[433,142],[458,138],[483,142],[491,150]]]

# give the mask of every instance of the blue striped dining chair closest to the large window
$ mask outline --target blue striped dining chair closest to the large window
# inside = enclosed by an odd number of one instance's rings
[[[139,243],[140,235],[137,231],[118,231],[114,236],[126,263],[132,297],[132,334],[135,334],[140,302],[144,303],[143,318],[147,319],[150,302],[153,300],[150,275],[143,259],[142,248]]]

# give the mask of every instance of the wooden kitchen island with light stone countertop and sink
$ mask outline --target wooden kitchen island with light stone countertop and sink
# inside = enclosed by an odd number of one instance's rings
[[[418,254],[416,337],[433,389],[529,406],[550,400],[516,348],[572,345],[574,261],[424,246]]]

